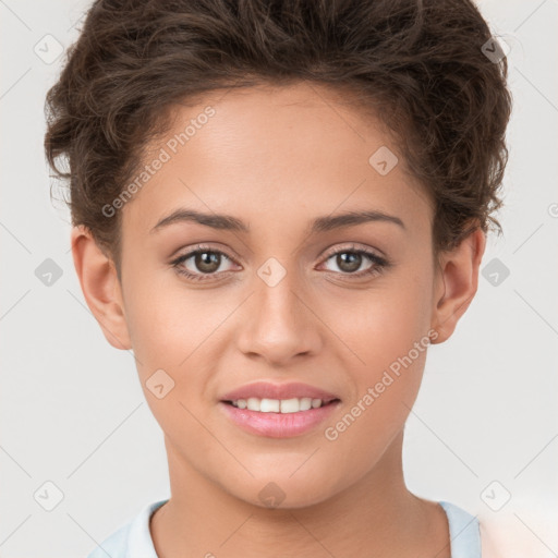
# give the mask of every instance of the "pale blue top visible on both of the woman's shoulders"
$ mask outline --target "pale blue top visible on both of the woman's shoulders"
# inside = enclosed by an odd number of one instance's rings
[[[149,532],[151,514],[168,500],[146,506],[133,520],[112,533],[87,558],[157,558]],[[448,501],[438,502],[448,517],[451,558],[481,558],[478,520]]]

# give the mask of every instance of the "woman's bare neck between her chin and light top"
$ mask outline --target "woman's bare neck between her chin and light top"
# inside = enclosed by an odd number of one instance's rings
[[[160,558],[449,557],[444,510],[404,484],[401,432],[360,482],[304,508],[241,500],[184,463],[166,440],[171,498],[151,518]]]

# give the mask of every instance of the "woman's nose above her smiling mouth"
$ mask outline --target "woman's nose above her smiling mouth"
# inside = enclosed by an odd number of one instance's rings
[[[239,349],[248,357],[270,365],[289,364],[294,357],[317,354],[322,347],[320,322],[312,301],[290,275],[275,287],[256,281],[243,305]]]

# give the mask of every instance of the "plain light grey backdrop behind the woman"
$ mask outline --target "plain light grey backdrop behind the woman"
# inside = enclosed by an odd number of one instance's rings
[[[162,434],[133,356],[109,345],[89,313],[69,214],[49,197],[45,94],[88,4],[0,1],[2,558],[86,556],[146,504],[169,497]],[[504,235],[488,238],[477,295],[454,335],[429,350],[404,472],[415,494],[477,515],[506,556],[550,557],[558,553],[558,3],[478,5],[511,49]],[[51,284],[45,269],[53,270]]]

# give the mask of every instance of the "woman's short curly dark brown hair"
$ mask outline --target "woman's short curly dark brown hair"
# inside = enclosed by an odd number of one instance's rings
[[[98,0],[47,94],[46,157],[70,179],[73,225],[118,268],[121,211],[102,207],[168,130],[167,109],[221,88],[315,83],[352,93],[397,138],[434,202],[438,254],[478,227],[501,233],[492,214],[511,94],[490,40],[471,0]]]

